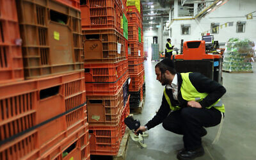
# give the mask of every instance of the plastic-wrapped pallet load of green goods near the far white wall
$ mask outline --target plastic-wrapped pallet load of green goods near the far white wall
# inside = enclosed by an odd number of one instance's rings
[[[228,72],[252,72],[255,44],[250,40],[230,38],[226,44],[223,70]]]

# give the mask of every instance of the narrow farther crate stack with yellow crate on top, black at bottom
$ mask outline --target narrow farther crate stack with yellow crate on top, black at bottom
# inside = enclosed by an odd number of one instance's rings
[[[140,1],[127,1],[128,17],[128,63],[131,83],[130,107],[138,108],[143,99],[144,84],[144,55],[143,55],[143,25],[140,14]]]

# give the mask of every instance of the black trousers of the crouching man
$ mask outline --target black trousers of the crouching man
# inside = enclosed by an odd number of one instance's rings
[[[220,124],[221,112],[215,108],[182,108],[172,111],[163,121],[164,129],[183,135],[184,148],[195,150],[202,147],[203,127]]]

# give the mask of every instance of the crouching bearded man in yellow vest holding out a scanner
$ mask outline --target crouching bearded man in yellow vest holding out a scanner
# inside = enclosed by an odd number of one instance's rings
[[[225,107],[220,98],[226,89],[200,73],[177,73],[169,58],[157,63],[157,80],[165,86],[159,111],[138,131],[147,131],[163,123],[164,129],[183,135],[184,148],[178,159],[193,159],[204,155],[202,136],[204,127],[223,122]],[[172,140],[166,140],[171,142]]]

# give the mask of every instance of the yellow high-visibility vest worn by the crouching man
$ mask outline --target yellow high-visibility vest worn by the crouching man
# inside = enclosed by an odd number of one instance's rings
[[[187,101],[195,100],[196,102],[200,102],[208,95],[208,93],[200,93],[196,90],[196,88],[193,86],[193,84],[189,80],[189,73],[181,73],[181,77],[182,77],[182,84],[180,86],[180,92],[181,92],[182,98],[184,100],[187,100]],[[169,99],[165,90],[164,90],[164,97],[166,100]],[[168,97],[168,98],[166,98],[166,97]],[[167,100],[167,102],[168,102],[168,100]],[[179,109],[179,107],[177,108],[177,106],[176,107],[172,106],[170,99],[169,99],[168,104],[171,109],[173,109],[173,108],[174,109],[176,108],[175,110]],[[214,107],[214,108],[218,109],[219,111],[225,113],[225,106],[224,106],[223,102],[221,101],[221,99],[218,99],[216,102],[214,102],[214,104],[207,107],[207,109],[209,109],[211,107]]]

